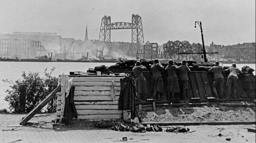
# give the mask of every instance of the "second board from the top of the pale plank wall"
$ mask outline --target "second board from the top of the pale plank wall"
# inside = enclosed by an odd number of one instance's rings
[[[112,82],[73,82],[73,86],[111,86]],[[115,86],[120,86],[119,82],[114,82]]]

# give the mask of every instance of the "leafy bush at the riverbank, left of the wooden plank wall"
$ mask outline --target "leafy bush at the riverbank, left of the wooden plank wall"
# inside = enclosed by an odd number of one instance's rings
[[[3,80],[11,84],[11,89],[6,90],[8,95],[5,97],[5,100],[10,104],[10,111],[16,113],[30,112],[51,93],[58,84],[58,78],[51,76],[54,69],[55,67],[51,69],[50,73],[47,73],[47,69],[45,69],[44,78],[41,78],[37,72],[29,72],[28,74],[22,72],[22,79],[18,79],[15,82]],[[56,102],[57,97],[46,105],[46,112],[56,111]]]

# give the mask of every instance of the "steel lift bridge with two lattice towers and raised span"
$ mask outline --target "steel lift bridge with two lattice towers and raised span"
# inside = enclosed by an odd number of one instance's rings
[[[111,23],[110,16],[104,16],[101,19],[99,40],[110,42],[111,29],[132,29],[132,43],[144,45],[144,37],[142,30],[141,17],[139,15],[132,15],[132,23],[128,22],[114,22]]]

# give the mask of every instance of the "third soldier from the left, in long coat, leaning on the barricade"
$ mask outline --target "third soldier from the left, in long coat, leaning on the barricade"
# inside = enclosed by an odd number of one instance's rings
[[[167,78],[167,99],[175,98],[175,93],[180,93],[178,77],[176,76],[176,71],[179,69],[177,65],[174,64],[173,60],[169,60],[169,65],[165,68],[168,72]]]

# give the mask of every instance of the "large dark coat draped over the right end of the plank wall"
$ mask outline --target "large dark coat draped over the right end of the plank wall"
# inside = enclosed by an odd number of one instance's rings
[[[118,110],[131,110],[131,119],[135,114],[136,83],[132,76],[125,76],[121,82],[121,92],[118,100]]]

